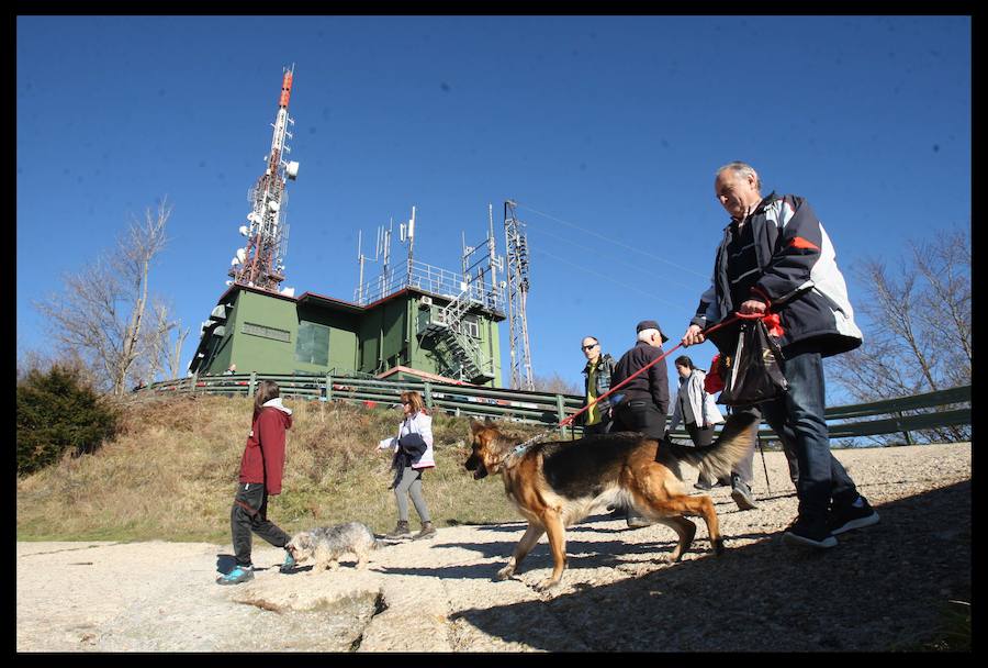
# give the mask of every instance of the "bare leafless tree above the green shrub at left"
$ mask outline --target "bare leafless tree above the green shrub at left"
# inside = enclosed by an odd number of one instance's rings
[[[64,290],[35,308],[63,353],[79,356],[98,374],[97,387],[122,394],[135,371],[155,368],[146,356],[160,348],[160,318],[148,325],[150,268],[167,244],[165,227],[171,207],[165,199],[144,220],[132,219],[115,248],[78,274],[63,278]],[[153,313],[160,316],[161,312]],[[167,329],[167,327],[166,327]],[[135,366],[136,365],[136,366]]]

